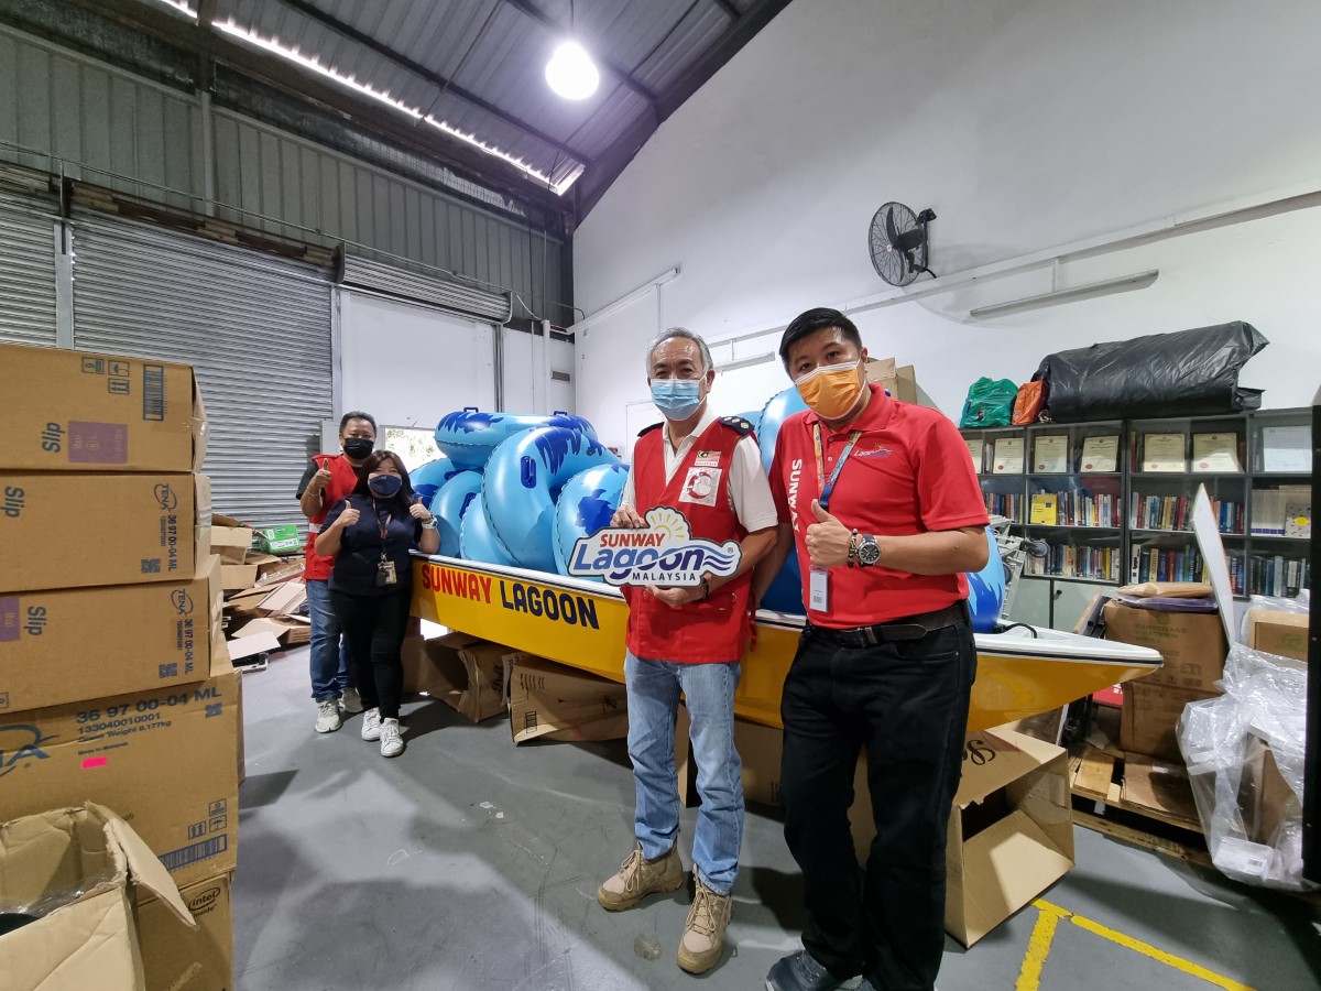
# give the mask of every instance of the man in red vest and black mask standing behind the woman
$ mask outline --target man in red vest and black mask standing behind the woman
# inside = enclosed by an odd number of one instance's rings
[[[312,698],[317,703],[318,733],[333,733],[342,723],[341,708],[347,714],[362,712],[362,702],[353,687],[349,651],[339,643],[339,620],[330,605],[328,583],[334,558],[318,558],[313,544],[326,513],[358,485],[358,468],[376,445],[376,422],[370,414],[345,414],[339,420],[339,445],[342,455],[313,457],[299,482],[299,507],[308,518],[303,580],[312,620]]]

